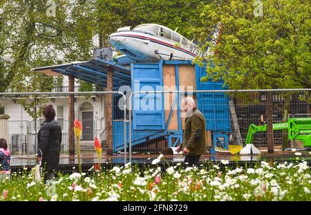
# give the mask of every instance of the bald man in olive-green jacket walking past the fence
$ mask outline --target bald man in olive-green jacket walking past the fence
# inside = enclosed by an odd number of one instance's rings
[[[186,112],[183,143],[176,151],[185,155],[185,163],[198,167],[200,156],[206,153],[205,118],[196,108],[192,97],[185,97],[181,101],[181,109]]]

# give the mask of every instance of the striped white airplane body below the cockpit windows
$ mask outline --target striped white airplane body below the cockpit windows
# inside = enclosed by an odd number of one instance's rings
[[[162,26],[163,28],[166,28]],[[167,28],[169,29],[169,28]],[[171,30],[172,31],[172,30]],[[171,34],[176,34],[171,32]],[[185,39],[179,35],[180,38]],[[185,44],[144,30],[122,30],[109,35],[109,41],[117,50],[136,62],[164,60],[191,60],[200,55],[198,47],[187,40]]]

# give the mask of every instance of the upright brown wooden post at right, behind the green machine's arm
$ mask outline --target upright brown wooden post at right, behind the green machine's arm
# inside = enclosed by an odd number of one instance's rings
[[[273,119],[272,119],[272,93],[266,93],[265,114],[267,119],[267,152],[274,153]]]

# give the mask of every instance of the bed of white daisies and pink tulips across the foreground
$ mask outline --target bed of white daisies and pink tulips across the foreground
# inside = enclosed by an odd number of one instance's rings
[[[59,174],[50,185],[31,173],[12,173],[0,183],[0,200],[311,200],[307,162],[261,162],[254,168],[205,167],[141,172],[125,165],[109,171]]]

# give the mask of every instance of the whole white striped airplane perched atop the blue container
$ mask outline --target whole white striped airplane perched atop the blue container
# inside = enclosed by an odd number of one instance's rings
[[[177,30],[177,28],[176,28]],[[202,51],[192,41],[158,24],[141,24],[118,28],[109,41],[122,55],[113,57],[116,64],[159,62],[163,60],[193,60]]]

